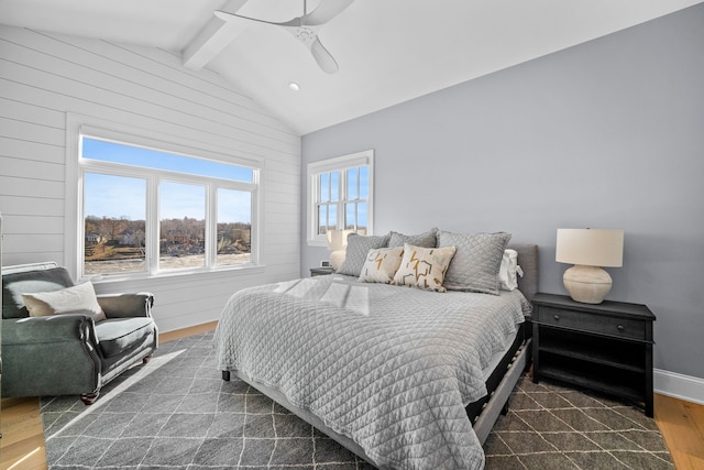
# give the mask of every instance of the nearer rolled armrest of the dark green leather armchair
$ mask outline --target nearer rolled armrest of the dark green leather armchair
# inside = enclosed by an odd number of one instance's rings
[[[80,341],[95,347],[95,328],[92,318],[82,314],[6,318],[2,320],[2,346]]]

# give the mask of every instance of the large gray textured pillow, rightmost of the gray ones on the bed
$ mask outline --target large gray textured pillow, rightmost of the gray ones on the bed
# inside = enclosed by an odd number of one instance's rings
[[[457,248],[444,275],[446,288],[498,295],[498,270],[508,240],[510,233],[504,232],[438,232],[438,248]]]

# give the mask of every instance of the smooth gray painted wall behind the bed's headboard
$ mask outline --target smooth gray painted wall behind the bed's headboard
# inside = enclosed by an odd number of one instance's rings
[[[512,232],[550,293],[558,228],[622,228],[607,298],[653,310],[656,368],[704,378],[703,25],[700,4],[305,135],[304,205],[307,163],[374,149],[376,233]],[[328,253],[301,240],[306,275]]]

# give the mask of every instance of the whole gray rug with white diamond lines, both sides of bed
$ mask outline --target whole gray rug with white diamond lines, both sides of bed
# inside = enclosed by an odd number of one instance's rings
[[[223,382],[212,332],[77,397],[41,401],[50,469],[373,469],[245,383]],[[672,469],[652,419],[630,405],[524,376],[487,438],[486,469]]]

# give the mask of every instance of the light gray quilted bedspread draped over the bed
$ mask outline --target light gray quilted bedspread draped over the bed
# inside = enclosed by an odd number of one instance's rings
[[[218,368],[240,370],[394,469],[481,469],[464,406],[524,321],[518,291],[431,293],[348,276],[246,288],[223,309]]]

